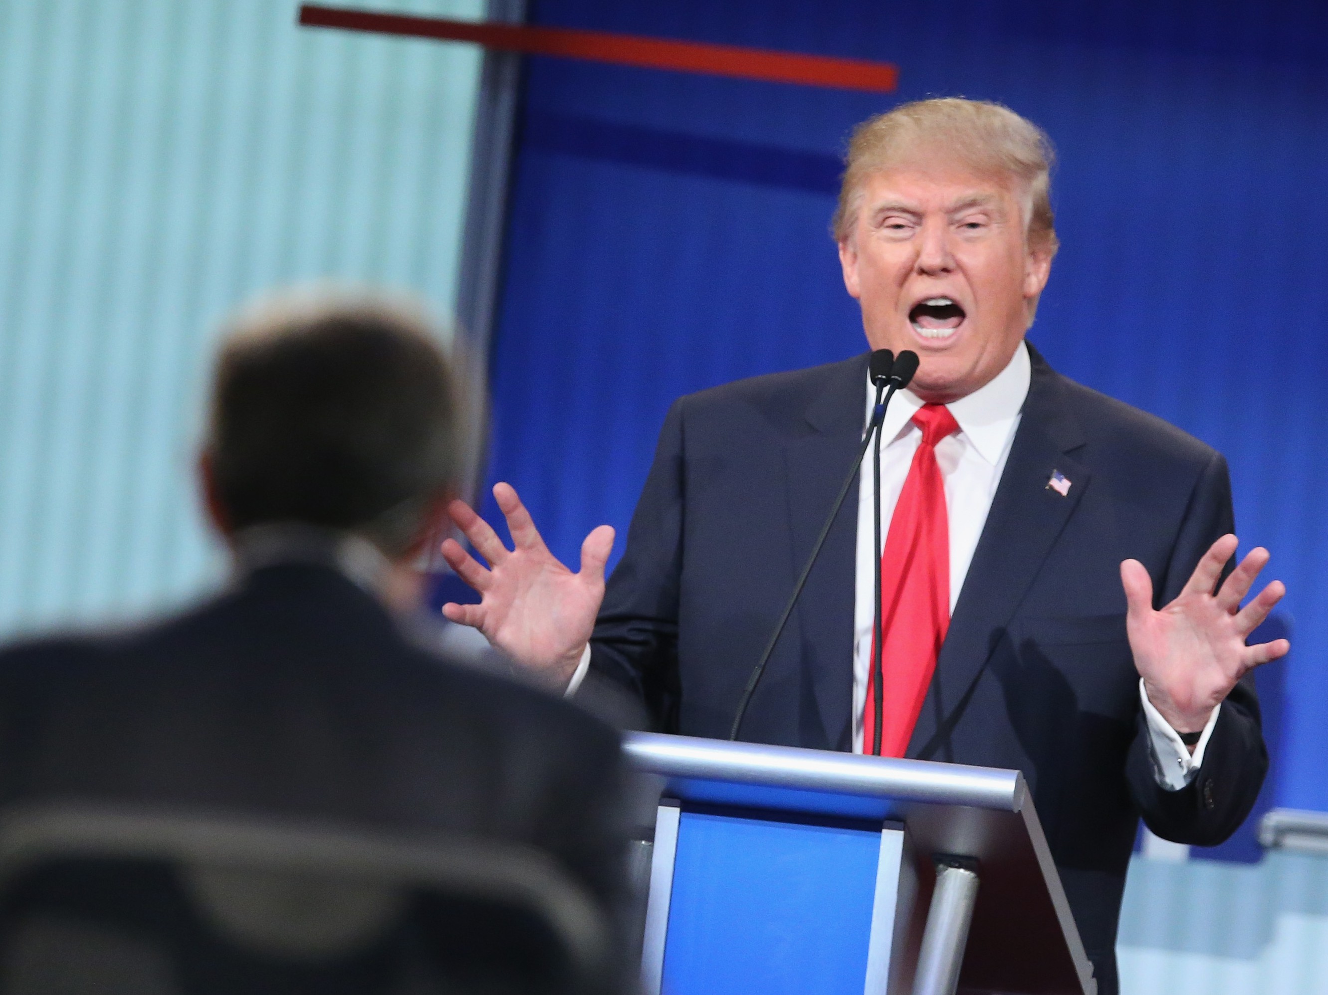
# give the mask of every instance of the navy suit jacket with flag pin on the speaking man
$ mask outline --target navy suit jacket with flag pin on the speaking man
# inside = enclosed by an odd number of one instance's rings
[[[1226,461],[1031,353],[1023,418],[908,756],[1024,772],[1105,995],[1139,816],[1170,840],[1220,842],[1254,805],[1267,753],[1247,681],[1194,782],[1159,788],[1125,634],[1121,561],[1147,567],[1158,604],[1173,599],[1232,527]],[[591,655],[661,731],[728,736],[855,456],[866,379],[862,355],[669,410]],[[1064,497],[1046,488],[1054,470],[1070,481]],[[850,749],[857,522],[851,489],[742,739]]]

